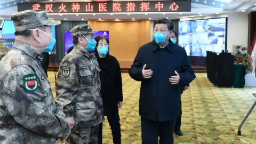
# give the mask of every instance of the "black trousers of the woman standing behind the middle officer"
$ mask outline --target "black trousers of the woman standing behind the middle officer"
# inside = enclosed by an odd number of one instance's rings
[[[121,125],[118,113],[109,115],[107,116],[107,118],[108,123],[111,127],[114,144],[121,144]],[[102,123],[100,124],[100,129],[98,133],[98,144],[102,144]]]

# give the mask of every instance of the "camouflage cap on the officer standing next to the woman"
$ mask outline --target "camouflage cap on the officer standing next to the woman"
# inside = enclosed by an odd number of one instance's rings
[[[99,30],[92,30],[90,25],[78,25],[70,30],[71,35],[74,36],[82,36],[87,34],[93,34],[98,32]]]

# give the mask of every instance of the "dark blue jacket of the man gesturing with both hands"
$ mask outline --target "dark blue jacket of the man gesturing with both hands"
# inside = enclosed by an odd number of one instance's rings
[[[153,70],[149,79],[142,77],[145,64],[146,69]],[[175,70],[180,76],[178,85],[169,82]],[[140,116],[157,122],[171,121],[180,115],[181,89],[196,78],[185,49],[171,41],[163,49],[155,41],[141,46],[129,74],[141,81]]]

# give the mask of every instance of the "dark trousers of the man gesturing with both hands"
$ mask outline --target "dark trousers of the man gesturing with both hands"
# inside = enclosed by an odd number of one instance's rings
[[[167,122],[154,122],[141,117],[142,144],[173,144],[175,119]]]

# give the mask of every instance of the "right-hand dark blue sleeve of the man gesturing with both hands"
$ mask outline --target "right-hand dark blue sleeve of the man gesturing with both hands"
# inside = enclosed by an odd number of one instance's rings
[[[181,68],[181,73],[180,75],[180,83],[179,86],[188,86],[189,83],[191,83],[195,78],[196,75],[194,73],[194,70],[191,68],[189,60],[188,60],[188,55],[185,51],[185,49],[182,50],[183,52],[183,62],[182,62],[182,68]]]

